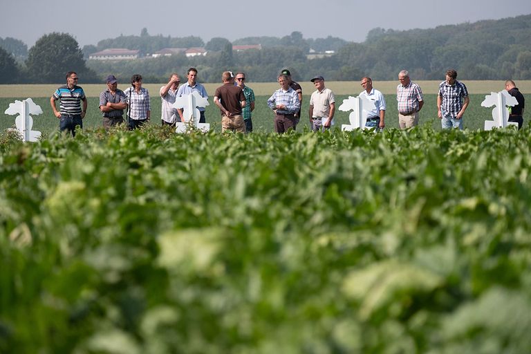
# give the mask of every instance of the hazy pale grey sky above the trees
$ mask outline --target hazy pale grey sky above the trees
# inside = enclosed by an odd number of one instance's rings
[[[0,37],[20,39],[28,48],[50,32],[68,32],[83,47],[119,35],[140,35],[142,28],[150,35],[195,35],[205,43],[212,37],[232,41],[283,37],[293,31],[304,38],[331,35],[360,42],[376,27],[434,28],[531,13],[530,0],[0,1]]]

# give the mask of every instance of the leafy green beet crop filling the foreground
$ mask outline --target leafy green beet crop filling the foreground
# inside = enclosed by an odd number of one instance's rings
[[[531,348],[529,130],[1,141],[1,353]]]

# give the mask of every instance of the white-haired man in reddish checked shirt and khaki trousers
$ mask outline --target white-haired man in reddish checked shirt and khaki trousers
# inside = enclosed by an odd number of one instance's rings
[[[416,127],[418,125],[418,112],[424,105],[420,86],[409,79],[406,70],[398,73],[400,84],[396,86],[396,100],[398,101],[398,125],[400,129]]]

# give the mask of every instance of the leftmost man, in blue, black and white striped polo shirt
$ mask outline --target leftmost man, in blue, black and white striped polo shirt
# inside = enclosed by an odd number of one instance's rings
[[[77,73],[68,71],[66,73],[66,85],[63,85],[50,97],[50,105],[53,114],[59,118],[59,130],[68,130],[75,136],[75,127],[78,125],[83,129],[83,118],[86,114],[86,97],[83,88],[77,86]],[[60,111],[57,111],[55,101],[60,100]],[[83,109],[81,108],[83,101]]]

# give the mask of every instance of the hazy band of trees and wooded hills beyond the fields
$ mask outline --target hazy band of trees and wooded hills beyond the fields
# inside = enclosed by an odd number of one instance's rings
[[[1,38],[0,38],[1,39]],[[233,52],[232,45],[261,44],[262,49]],[[144,57],[127,61],[86,59],[104,48],[129,48],[145,55],[162,48],[205,47],[205,57]],[[334,50],[328,57],[309,59],[308,50]],[[531,79],[531,15],[500,20],[438,26],[427,30],[373,28],[362,43],[337,37],[304,39],[301,32],[285,37],[245,37],[229,41],[214,37],[206,44],[199,37],[151,36],[143,28],[138,36],[104,39],[97,46],[78,46],[64,33],[44,35],[24,57],[17,39],[0,40],[0,82],[51,83],[64,81],[75,70],[83,82],[102,82],[113,73],[130,77],[140,73],[146,82],[162,82],[170,73],[198,68],[201,81],[219,82],[225,70],[245,71],[255,82],[270,82],[281,68],[290,68],[295,80],[324,75],[327,80],[395,80],[407,69],[413,80],[438,80],[447,68],[455,68],[464,80]]]

